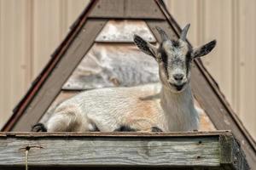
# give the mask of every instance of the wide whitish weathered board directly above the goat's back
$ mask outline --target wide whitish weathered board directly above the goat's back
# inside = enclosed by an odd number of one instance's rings
[[[153,82],[159,82],[158,65],[134,43],[95,43],[62,89],[131,87]]]

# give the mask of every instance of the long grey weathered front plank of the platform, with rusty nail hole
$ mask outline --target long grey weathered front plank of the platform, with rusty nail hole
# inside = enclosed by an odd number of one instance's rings
[[[218,137],[0,139],[0,167],[28,165],[84,167],[219,167]]]

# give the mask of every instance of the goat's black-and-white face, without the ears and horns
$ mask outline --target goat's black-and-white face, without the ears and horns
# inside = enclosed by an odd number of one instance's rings
[[[166,40],[160,44],[160,80],[173,92],[181,92],[190,79],[191,50],[187,43]]]

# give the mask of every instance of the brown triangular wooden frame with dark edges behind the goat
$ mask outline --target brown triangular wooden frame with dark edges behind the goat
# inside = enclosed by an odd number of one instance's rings
[[[162,0],[91,0],[74,22],[67,37],[52,54],[49,63],[15,107],[2,131],[29,131],[32,124],[38,122],[109,19],[145,20],[158,41],[160,37],[155,26],[164,29],[169,37],[178,37],[181,31]],[[253,138],[247,133],[200,59],[195,60],[192,77],[195,98],[207,111],[215,127],[218,130],[230,129],[245,151],[250,167],[256,167],[256,144]]]

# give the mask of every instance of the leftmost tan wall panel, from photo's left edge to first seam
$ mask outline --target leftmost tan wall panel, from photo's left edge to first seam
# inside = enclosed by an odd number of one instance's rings
[[[0,1],[0,126],[31,81],[30,3]]]

